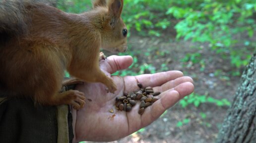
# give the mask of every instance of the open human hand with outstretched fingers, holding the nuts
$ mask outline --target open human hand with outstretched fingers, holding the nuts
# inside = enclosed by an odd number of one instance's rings
[[[128,68],[132,63],[131,56],[110,56],[100,61],[101,69],[108,75]],[[72,109],[73,143],[80,141],[109,142],[124,138],[133,132],[151,124],[166,109],[172,107],[193,90],[193,80],[184,76],[180,71],[167,71],[156,74],[138,76],[112,76],[118,90],[115,94],[107,93],[101,83],[85,83],[76,86],[76,90],[83,92],[87,99],[85,106],[79,110]],[[155,92],[161,92],[160,98],[147,107],[142,115],[138,114],[137,102],[130,112],[115,109],[115,98],[126,92],[132,92],[137,82],[143,87],[153,87]],[[109,110],[114,109],[114,113]],[[114,117],[113,117],[114,115]]]

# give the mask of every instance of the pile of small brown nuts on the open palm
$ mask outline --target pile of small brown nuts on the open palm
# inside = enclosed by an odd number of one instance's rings
[[[137,86],[139,90],[131,93],[125,92],[123,96],[116,97],[115,105],[118,110],[129,112],[132,106],[136,104],[135,100],[139,100],[140,105],[138,113],[142,115],[146,107],[152,105],[152,103],[159,99],[155,96],[160,95],[160,92],[154,92],[151,87],[142,88],[143,86],[140,83],[138,83]]]

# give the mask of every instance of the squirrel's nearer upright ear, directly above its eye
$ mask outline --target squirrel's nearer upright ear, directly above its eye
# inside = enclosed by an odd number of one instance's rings
[[[121,16],[123,5],[123,0],[109,0],[108,2],[109,11],[115,18],[119,18]]]

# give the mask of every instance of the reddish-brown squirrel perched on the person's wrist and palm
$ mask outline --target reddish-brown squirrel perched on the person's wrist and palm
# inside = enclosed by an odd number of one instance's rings
[[[84,106],[83,93],[60,93],[64,70],[85,82],[117,88],[99,68],[100,48],[127,50],[123,0],[92,0],[93,9],[65,13],[41,0],[0,1],[0,93],[43,105]]]

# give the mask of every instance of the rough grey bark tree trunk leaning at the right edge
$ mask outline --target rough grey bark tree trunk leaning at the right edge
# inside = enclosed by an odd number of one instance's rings
[[[256,143],[256,53],[243,72],[216,143]]]

